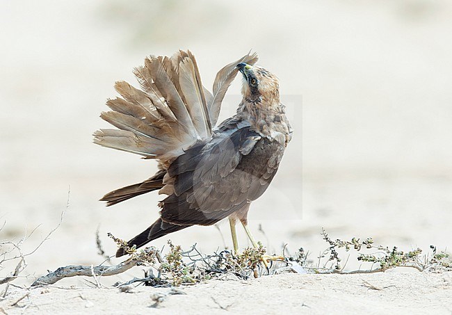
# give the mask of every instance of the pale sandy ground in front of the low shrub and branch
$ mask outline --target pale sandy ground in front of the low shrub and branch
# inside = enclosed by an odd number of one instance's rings
[[[451,314],[452,273],[282,274],[247,282],[210,281],[177,289],[15,290],[8,314]],[[9,305],[29,293],[26,298]],[[180,294],[181,293],[181,294]],[[155,305],[152,296],[165,296]]]

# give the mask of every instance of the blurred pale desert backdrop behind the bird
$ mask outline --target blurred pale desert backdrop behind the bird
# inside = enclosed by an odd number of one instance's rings
[[[250,227],[270,252],[314,253],[333,239],[373,236],[403,250],[451,245],[452,3],[381,1],[2,1],[0,239],[31,250],[28,273],[99,264],[95,231],[129,239],[158,216],[156,194],[106,208],[100,197],[150,177],[154,161],[92,144],[115,97],[137,86],[149,54],[191,49],[204,86],[250,49],[280,78],[294,136]],[[223,118],[239,103],[229,88]],[[261,229],[259,229],[259,226]],[[230,248],[229,226],[168,239]],[[248,245],[239,230],[242,247]],[[317,254],[312,254],[316,259]],[[119,260],[115,260],[117,262]]]

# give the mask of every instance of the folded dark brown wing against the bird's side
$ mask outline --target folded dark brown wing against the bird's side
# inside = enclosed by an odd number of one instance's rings
[[[277,168],[268,161],[279,143],[266,152],[262,145],[268,143],[262,141],[268,139],[245,127],[179,156],[168,168],[174,193],[163,200],[161,218],[172,224],[210,225],[255,200]]]

